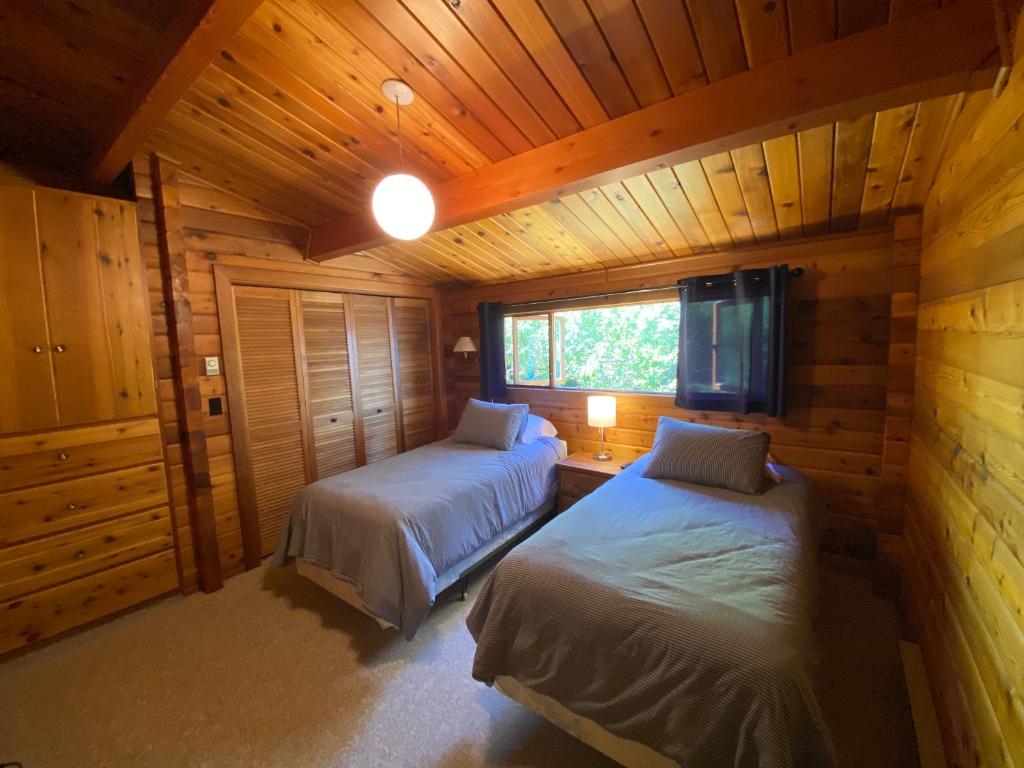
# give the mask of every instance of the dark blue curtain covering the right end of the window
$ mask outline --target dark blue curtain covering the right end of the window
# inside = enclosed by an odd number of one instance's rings
[[[676,404],[785,415],[787,265],[679,281]]]

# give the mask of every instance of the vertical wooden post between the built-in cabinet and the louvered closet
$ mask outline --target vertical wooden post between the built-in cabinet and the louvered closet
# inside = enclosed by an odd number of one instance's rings
[[[199,360],[193,330],[188,264],[185,259],[177,166],[156,155],[151,160],[153,199],[157,213],[160,272],[167,307],[167,335],[174,374],[181,463],[188,493],[188,514],[199,587],[214,592],[223,586],[217,526],[213,511],[210,459],[206,447],[203,400],[199,389]]]

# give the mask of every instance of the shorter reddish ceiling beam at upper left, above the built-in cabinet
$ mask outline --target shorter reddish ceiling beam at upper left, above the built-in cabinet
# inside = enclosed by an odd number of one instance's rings
[[[190,31],[169,34],[168,49],[155,51],[153,76],[126,104],[109,140],[96,147],[89,164],[89,180],[109,184],[131,161],[132,155],[160,125],[171,108],[196,81],[213,57],[242,29],[262,0],[212,0]],[[180,41],[180,44],[178,43]]]

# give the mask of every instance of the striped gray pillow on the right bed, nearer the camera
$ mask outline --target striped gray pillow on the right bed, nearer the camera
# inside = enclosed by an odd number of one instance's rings
[[[663,416],[643,476],[759,494],[770,442],[767,432],[709,427]]]

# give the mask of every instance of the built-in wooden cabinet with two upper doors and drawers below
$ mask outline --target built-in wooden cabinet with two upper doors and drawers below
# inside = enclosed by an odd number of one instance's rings
[[[134,206],[0,187],[0,653],[178,586]]]

